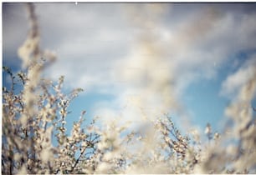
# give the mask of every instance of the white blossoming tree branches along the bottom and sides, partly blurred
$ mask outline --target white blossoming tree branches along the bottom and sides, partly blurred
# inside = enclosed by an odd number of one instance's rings
[[[212,133],[207,124],[206,143],[197,131],[182,134],[168,114],[147,121],[149,129],[141,133],[116,121],[102,127],[92,121],[83,127],[84,111],[67,131],[69,104],[82,89],[64,93],[64,77],[52,82],[42,75],[55,55],[39,47],[33,3],[27,7],[30,32],[18,49],[23,70],[14,75],[3,67],[12,82],[3,87],[3,174],[256,172],[256,128],[250,107],[256,67],[254,77],[227,109],[233,124],[223,133]]]

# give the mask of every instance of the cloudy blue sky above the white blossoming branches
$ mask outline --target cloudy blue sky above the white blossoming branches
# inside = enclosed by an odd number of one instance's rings
[[[222,130],[225,107],[256,59],[255,3],[36,3],[41,47],[58,60],[44,75],[84,88],[69,107],[102,121],[154,120]],[[23,3],[3,3],[3,65],[21,67]],[[3,81],[3,84],[7,82]],[[255,96],[252,102],[256,106]]]

